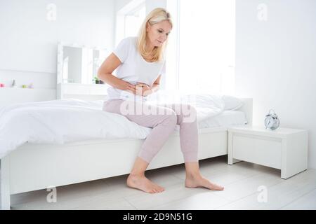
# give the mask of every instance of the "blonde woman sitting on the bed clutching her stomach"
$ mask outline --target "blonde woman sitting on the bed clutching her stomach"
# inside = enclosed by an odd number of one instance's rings
[[[121,41],[98,71],[98,77],[111,85],[107,90],[110,99],[105,102],[103,110],[124,115],[138,125],[152,127],[126,183],[127,186],[146,193],[164,191],[163,187],[145,177],[145,170],[175,130],[176,125],[180,125],[180,146],[186,170],[185,186],[223,190],[223,187],[211,183],[199,172],[198,130],[196,111],[193,106],[147,104],[150,111],[164,109],[166,112],[164,114],[147,114],[142,111],[135,114],[132,110],[129,110],[129,113],[122,111],[125,108],[122,104],[132,102],[131,98],[136,107],[146,105],[147,96],[159,89],[160,78],[165,72],[164,48],[171,29],[172,22],[169,13],[164,8],[152,10],[145,18],[138,37],[129,37]],[[117,69],[117,76],[112,75],[115,69]],[[185,108],[195,116],[194,120],[185,122],[183,112]]]

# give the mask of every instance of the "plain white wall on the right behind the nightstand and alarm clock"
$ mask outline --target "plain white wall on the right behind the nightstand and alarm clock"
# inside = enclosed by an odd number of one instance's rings
[[[257,19],[265,3],[268,20]],[[316,168],[316,1],[236,1],[236,94],[254,98],[254,125],[275,109],[281,127],[309,131]]]

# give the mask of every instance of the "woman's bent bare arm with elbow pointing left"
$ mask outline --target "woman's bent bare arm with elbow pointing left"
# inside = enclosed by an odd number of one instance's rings
[[[98,78],[119,90],[136,90],[136,85],[132,85],[131,83],[112,75],[112,72],[117,69],[120,64],[121,61],[119,58],[112,53],[101,64],[100,69],[98,70]]]

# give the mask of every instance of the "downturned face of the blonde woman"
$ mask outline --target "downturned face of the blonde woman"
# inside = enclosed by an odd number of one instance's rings
[[[160,47],[168,38],[171,31],[171,24],[168,20],[158,22],[154,25],[147,24],[147,41],[152,47]]]

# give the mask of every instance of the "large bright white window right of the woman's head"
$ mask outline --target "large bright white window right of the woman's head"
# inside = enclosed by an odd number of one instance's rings
[[[234,94],[235,0],[169,0],[167,9],[167,89]]]

